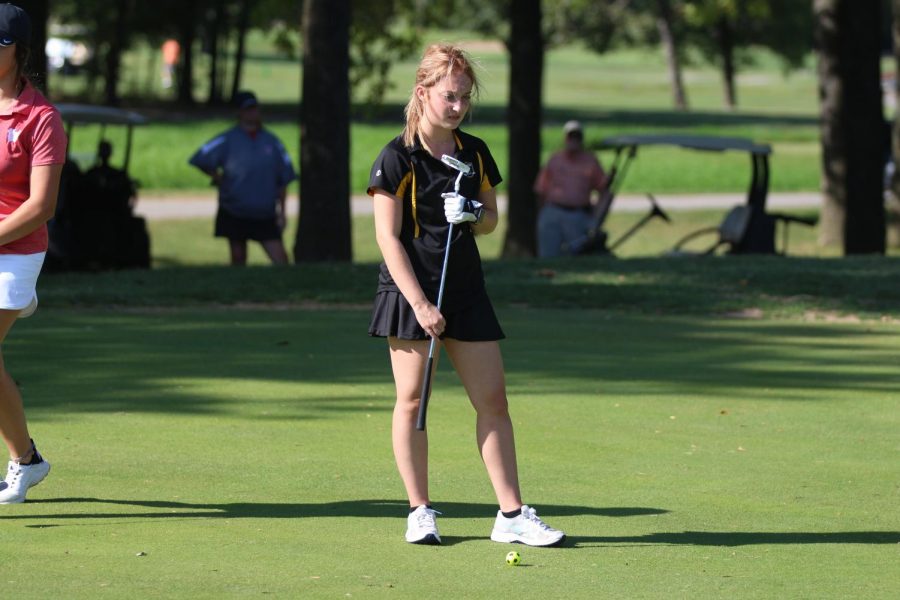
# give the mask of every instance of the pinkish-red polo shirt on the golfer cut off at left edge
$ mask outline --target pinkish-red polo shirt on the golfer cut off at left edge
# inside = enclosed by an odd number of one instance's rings
[[[0,112],[0,219],[31,195],[31,167],[66,162],[66,130],[52,104],[29,83],[6,111]],[[47,225],[5,246],[0,254],[47,250]]]

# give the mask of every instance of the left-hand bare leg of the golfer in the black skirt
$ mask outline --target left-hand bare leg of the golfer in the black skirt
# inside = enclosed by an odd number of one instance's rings
[[[422,371],[428,360],[429,341],[388,338],[391,367],[397,387],[392,440],[394,459],[406,487],[410,506],[431,504],[428,497],[428,435],[416,429]],[[435,356],[434,366],[437,366]]]

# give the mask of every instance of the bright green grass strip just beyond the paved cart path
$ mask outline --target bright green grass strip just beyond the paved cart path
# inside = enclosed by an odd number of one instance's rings
[[[815,130],[811,125],[782,125],[777,119],[766,123],[746,124],[739,119],[732,122],[702,126],[702,117],[692,120],[674,121],[665,126],[652,124],[652,115],[629,114],[626,118],[619,112],[595,114],[585,119],[588,128],[588,143],[599,143],[608,136],[622,133],[640,132],[689,132],[737,137],[750,137],[773,144],[771,157],[770,187],[777,192],[808,191],[818,187],[820,174],[819,148],[815,141]],[[626,125],[633,122],[633,125]],[[153,123],[140,128],[135,133],[131,173],[140,182],[145,193],[159,194],[173,191],[195,192],[208,189],[209,180],[202,173],[188,165],[191,155],[207,140],[224,131],[232,123],[226,119],[204,119],[197,117],[190,122]],[[292,155],[294,164],[299,164],[299,127],[296,122],[274,121],[270,129],[284,142]],[[543,129],[543,155],[546,159],[560,146],[560,123],[547,125]],[[381,148],[400,133],[402,121],[394,123],[355,123],[352,128],[351,146],[351,192],[365,193],[369,181],[369,170]],[[475,116],[464,129],[483,138],[497,160],[501,173],[507,173],[508,135],[504,125],[479,121]],[[121,133],[107,130],[106,137],[114,146],[124,152],[124,137]],[[72,152],[80,159],[83,168],[91,166],[94,151],[99,140],[99,130],[80,127],[72,141]],[[797,138],[805,138],[800,141]],[[121,164],[123,155],[114,155],[114,164]],[[607,168],[612,162],[612,153],[599,154]],[[655,193],[709,193],[743,192],[750,182],[751,163],[748,155],[738,152],[715,154],[695,152],[675,147],[646,148],[640,151],[628,177],[624,179],[623,192]],[[505,189],[501,184],[501,192]],[[291,186],[295,191],[297,184]]]

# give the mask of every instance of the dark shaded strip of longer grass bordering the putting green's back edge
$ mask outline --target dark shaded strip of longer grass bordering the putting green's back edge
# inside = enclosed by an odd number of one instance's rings
[[[501,305],[641,314],[785,318],[900,318],[900,263],[884,258],[707,257],[519,260],[485,263]],[[182,306],[241,303],[367,305],[374,263],[282,268],[196,266],[46,275],[48,306]]]

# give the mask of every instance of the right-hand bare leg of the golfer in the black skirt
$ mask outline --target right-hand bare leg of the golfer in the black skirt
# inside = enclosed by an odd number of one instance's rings
[[[500,509],[516,510],[522,498],[500,345],[445,339],[444,346],[475,407],[478,449]]]

